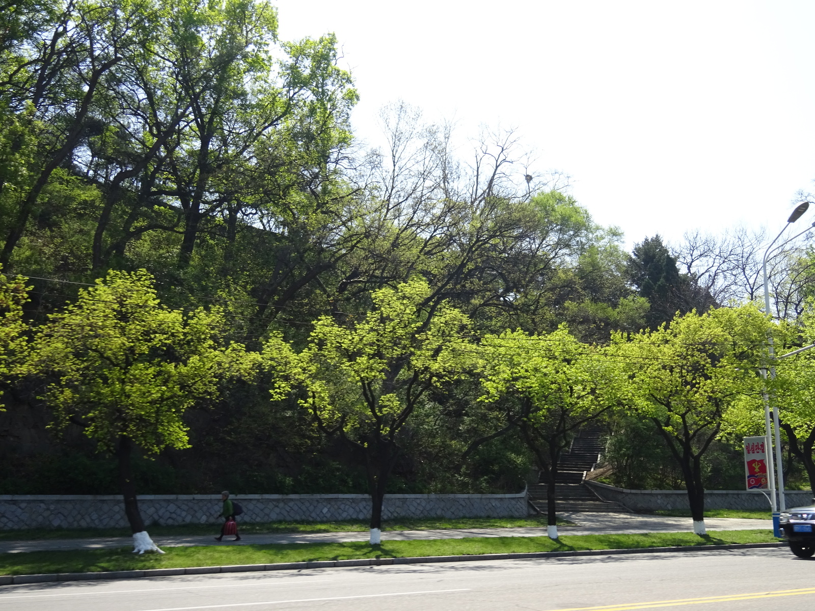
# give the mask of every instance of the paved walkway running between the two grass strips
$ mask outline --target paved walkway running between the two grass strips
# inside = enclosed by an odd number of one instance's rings
[[[575,526],[559,526],[559,534],[641,534],[675,533],[693,530],[689,517],[644,516],[636,513],[562,513]],[[771,520],[746,520],[742,518],[711,517],[705,520],[707,530],[772,529]],[[217,525],[213,525],[214,533]],[[546,528],[466,528],[450,530],[385,530],[384,541],[412,541],[415,539],[465,538],[465,537],[543,537]],[[285,533],[246,534],[240,542],[214,541],[213,536],[154,537],[159,547],[200,545],[262,545],[266,543],[344,543],[368,541],[368,532],[354,533]],[[46,550],[99,549],[104,547],[130,546],[129,537],[40,539],[36,541],[2,541],[0,552],[40,552]]]

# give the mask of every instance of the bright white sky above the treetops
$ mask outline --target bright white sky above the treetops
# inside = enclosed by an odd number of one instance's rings
[[[337,34],[359,138],[381,142],[379,110],[398,100],[455,121],[462,156],[480,125],[513,129],[533,173],[571,176],[571,195],[629,247],[738,225],[775,233],[796,194],[815,193],[815,2],[277,7],[284,40]],[[799,223],[813,220],[815,205]]]

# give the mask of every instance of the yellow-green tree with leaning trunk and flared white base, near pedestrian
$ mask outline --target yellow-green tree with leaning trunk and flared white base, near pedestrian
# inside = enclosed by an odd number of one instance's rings
[[[162,306],[147,272],[111,271],[51,314],[35,338],[32,367],[50,376],[55,427],[79,424],[116,456],[134,552],[161,552],[139,513],[134,451],[188,447],[184,412],[258,360],[239,344],[224,347],[223,327],[218,309],[183,314]]]

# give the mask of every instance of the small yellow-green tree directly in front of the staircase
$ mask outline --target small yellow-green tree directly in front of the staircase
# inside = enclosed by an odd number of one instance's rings
[[[613,369],[565,324],[548,335],[504,332],[482,341],[481,400],[520,433],[547,481],[547,530],[557,538],[557,463],[575,433],[616,405]],[[496,419],[497,420],[497,419]]]

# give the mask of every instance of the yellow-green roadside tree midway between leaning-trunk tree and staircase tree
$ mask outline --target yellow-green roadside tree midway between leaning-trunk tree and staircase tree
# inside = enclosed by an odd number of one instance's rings
[[[400,434],[430,389],[465,371],[474,349],[460,338],[467,317],[443,302],[428,306],[428,297],[427,284],[414,279],[373,292],[373,310],[357,322],[321,317],[295,372],[306,391],[301,403],[319,429],[363,456],[372,544],[380,541]]]

